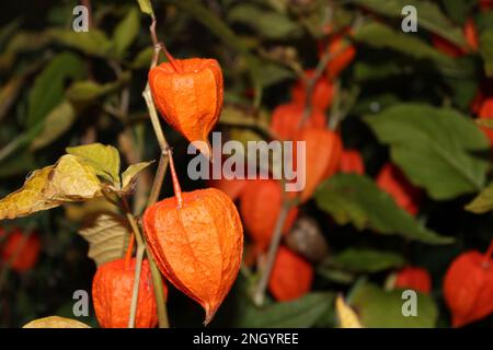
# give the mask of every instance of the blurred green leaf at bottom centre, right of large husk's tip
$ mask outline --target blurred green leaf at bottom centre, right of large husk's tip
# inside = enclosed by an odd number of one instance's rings
[[[238,317],[234,327],[252,328],[307,328],[312,326],[334,303],[333,293],[309,293],[284,303],[275,303],[263,308],[252,304],[244,315]]]

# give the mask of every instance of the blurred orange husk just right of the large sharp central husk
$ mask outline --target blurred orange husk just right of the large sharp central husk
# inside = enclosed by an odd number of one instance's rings
[[[241,217],[259,250],[265,250],[271,243],[283,206],[283,188],[280,186],[280,183],[274,179],[255,179],[250,180],[241,194]],[[291,229],[297,215],[298,208],[291,208],[287,214],[283,233],[287,233]]]

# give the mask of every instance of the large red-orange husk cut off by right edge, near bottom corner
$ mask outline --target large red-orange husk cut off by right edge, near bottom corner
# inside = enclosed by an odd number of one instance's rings
[[[469,250],[458,256],[444,279],[444,296],[460,327],[493,312],[493,259]]]

